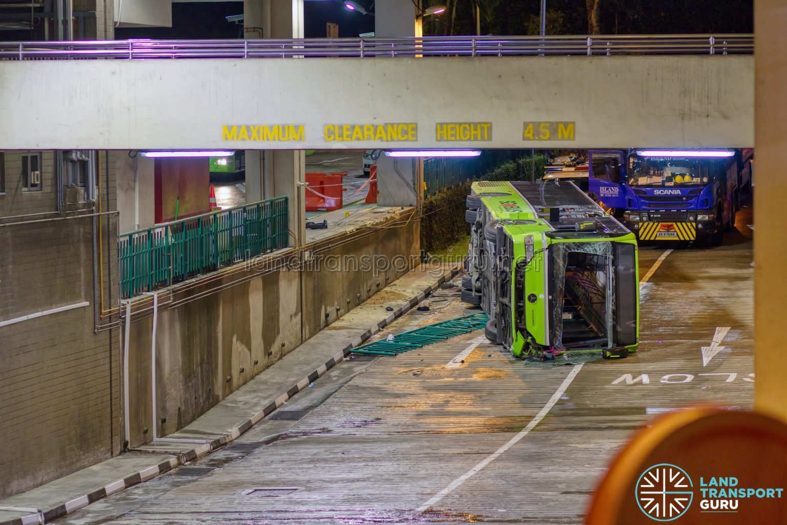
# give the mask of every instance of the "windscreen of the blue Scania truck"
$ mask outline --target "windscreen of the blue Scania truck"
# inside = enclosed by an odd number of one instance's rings
[[[697,187],[708,183],[709,161],[684,158],[631,157],[630,186]]]

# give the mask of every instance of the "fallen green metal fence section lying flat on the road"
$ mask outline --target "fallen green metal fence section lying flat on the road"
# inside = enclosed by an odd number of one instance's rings
[[[375,341],[368,345],[359,346],[353,349],[353,353],[395,356],[408,350],[456,337],[456,335],[469,334],[471,331],[480,330],[486,325],[486,320],[486,313],[481,312],[442,321],[442,323],[428,324],[427,326],[395,335],[390,341]]]

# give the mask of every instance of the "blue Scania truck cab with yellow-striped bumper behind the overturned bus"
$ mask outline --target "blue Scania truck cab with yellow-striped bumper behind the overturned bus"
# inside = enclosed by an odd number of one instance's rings
[[[719,246],[735,222],[733,150],[591,151],[589,195],[641,241]]]

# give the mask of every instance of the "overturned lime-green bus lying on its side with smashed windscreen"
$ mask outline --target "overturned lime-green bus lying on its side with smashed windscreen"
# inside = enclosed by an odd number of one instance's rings
[[[462,299],[516,357],[634,353],[637,240],[571,182],[475,182]]]

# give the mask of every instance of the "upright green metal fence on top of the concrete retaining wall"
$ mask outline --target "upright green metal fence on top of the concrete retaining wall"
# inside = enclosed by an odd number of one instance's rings
[[[287,198],[120,235],[120,293],[130,298],[287,246]]]

